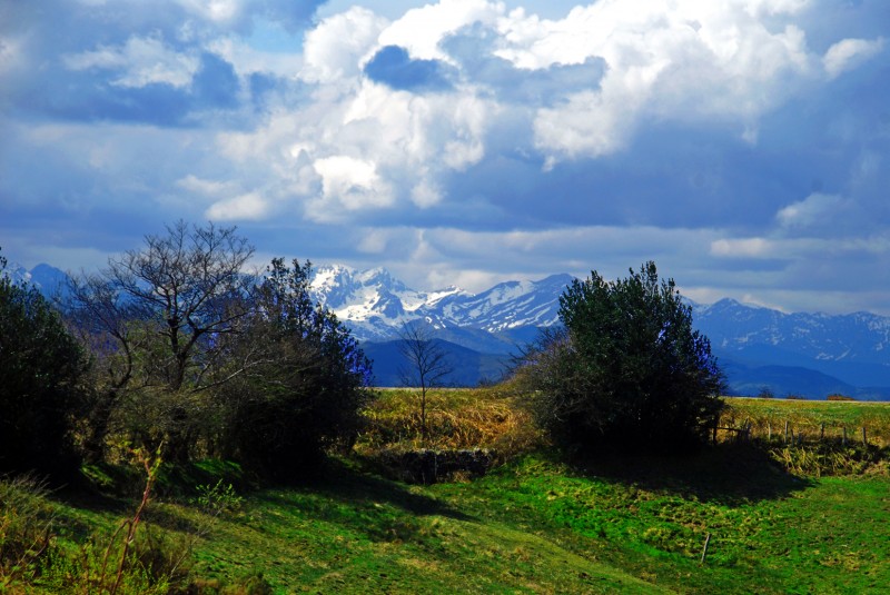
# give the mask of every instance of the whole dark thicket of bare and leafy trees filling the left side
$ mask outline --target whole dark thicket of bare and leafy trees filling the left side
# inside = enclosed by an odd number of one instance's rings
[[[0,279],[0,473],[56,474],[130,448],[289,473],[349,447],[370,363],[309,295],[310,262],[234,227],[178,222],[71,282],[53,305]]]

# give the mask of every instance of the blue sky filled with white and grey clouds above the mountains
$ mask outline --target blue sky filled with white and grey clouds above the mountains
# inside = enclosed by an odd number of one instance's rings
[[[0,247],[890,316],[887,0],[0,0]]]

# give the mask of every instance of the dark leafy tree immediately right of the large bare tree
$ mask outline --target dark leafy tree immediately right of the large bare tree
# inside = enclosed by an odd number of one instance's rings
[[[230,444],[271,473],[352,447],[370,398],[370,361],[330,310],[310,296],[312,264],[271,261],[255,291],[240,353],[263,364],[230,385]]]

